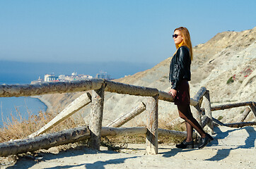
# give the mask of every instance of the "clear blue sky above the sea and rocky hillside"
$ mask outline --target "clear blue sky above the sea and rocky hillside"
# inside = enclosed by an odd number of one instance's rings
[[[0,0],[0,61],[157,64],[176,27],[192,45],[256,26],[256,1]]]

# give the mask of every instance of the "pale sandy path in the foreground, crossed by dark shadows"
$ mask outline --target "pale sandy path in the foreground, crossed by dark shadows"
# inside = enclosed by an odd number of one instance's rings
[[[204,149],[176,149],[159,144],[159,154],[146,155],[145,144],[130,144],[122,153],[83,148],[20,158],[1,168],[256,168],[256,127],[215,127],[214,141]]]

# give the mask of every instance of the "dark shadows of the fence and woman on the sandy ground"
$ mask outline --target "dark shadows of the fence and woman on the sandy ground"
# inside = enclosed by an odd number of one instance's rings
[[[227,148],[225,149],[225,145],[220,144],[219,141],[221,139],[226,139],[228,136],[231,135],[232,132],[236,132],[239,130],[246,130],[248,132],[248,137],[245,138],[245,144],[243,145],[227,145]],[[204,159],[204,161],[221,161],[224,158],[227,158],[228,155],[231,153],[232,150],[235,149],[251,149],[252,147],[255,147],[255,139],[256,139],[256,131],[254,127],[243,127],[243,128],[234,128],[231,130],[227,130],[226,132],[221,132],[219,127],[214,127],[214,131],[216,132],[216,135],[214,136],[214,141],[208,144],[207,146],[210,148],[213,146],[213,149],[217,149],[217,151],[214,151],[214,155],[212,155],[210,158]],[[218,148],[218,146],[220,146]],[[233,146],[233,148],[229,148],[230,146]],[[190,152],[190,151],[197,151],[197,149],[171,149],[168,151],[168,149],[165,148],[159,148],[163,149],[164,152],[160,153],[163,157],[173,157],[176,156],[179,153],[182,152]],[[141,151],[143,151],[142,149]],[[165,151],[166,150],[166,151]],[[50,160],[56,160],[58,158],[64,158],[64,157],[74,157],[74,156],[80,156],[84,154],[118,154],[115,151],[95,151],[92,149],[88,149],[86,147],[82,147],[81,149],[69,149],[67,151],[60,151],[58,154],[51,154],[51,153],[41,153],[38,154],[38,156],[42,156],[42,161],[50,161]],[[121,156],[120,156],[121,157]],[[95,161],[92,163],[80,163],[80,164],[74,164],[74,165],[61,165],[61,166],[54,166],[54,167],[49,167],[47,169],[58,169],[58,168],[76,168],[76,167],[84,167],[84,168],[100,168],[103,169],[105,168],[105,165],[110,165],[110,164],[120,164],[124,163],[129,158],[139,158],[141,156],[129,156],[127,158],[115,158],[115,159],[109,159],[106,161]],[[55,161],[56,162],[56,161]],[[35,159],[31,158],[28,159],[28,157],[24,156],[18,159],[16,165],[8,167],[8,169],[13,169],[13,168],[30,168],[33,167],[33,165],[40,163],[40,161],[35,161]],[[59,163],[57,161],[56,163]]]

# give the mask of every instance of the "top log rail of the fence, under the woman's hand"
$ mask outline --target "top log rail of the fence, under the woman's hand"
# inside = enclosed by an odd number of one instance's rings
[[[159,94],[158,97],[160,100],[173,102],[173,96],[168,94],[168,92],[163,92],[156,88],[140,87],[102,79],[77,80],[70,82],[45,82],[42,84],[0,84],[0,97],[85,92],[88,90],[100,89],[103,83],[106,84],[106,92],[130,94],[134,96],[156,96]],[[195,98],[197,98],[197,96]],[[190,104],[192,106],[196,106],[197,103],[198,101],[196,99],[190,99]]]

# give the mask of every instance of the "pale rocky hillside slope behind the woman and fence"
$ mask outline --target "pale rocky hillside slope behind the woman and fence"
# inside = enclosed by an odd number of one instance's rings
[[[209,42],[194,46],[194,60],[192,61],[192,81],[190,82],[191,97],[200,87],[209,89],[211,104],[228,104],[242,101],[256,101],[256,27],[243,32],[221,32]],[[136,73],[116,80],[127,84],[144,87],[155,87],[168,92],[168,71],[171,58],[158,63],[149,70]],[[52,111],[61,111],[81,93],[51,94],[42,96],[52,103]],[[105,93],[103,125],[128,113],[146,98],[124,94]],[[225,111],[214,111],[214,118],[221,118],[225,122],[233,122],[240,116],[245,107],[232,108]],[[88,122],[90,106],[81,110]],[[172,103],[159,101],[159,119],[170,122],[177,118],[177,108]],[[246,120],[255,120],[250,113]],[[125,126],[144,125],[146,114],[141,113]]]

